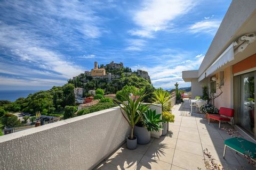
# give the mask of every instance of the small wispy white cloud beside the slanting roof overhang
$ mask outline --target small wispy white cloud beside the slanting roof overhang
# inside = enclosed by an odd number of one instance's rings
[[[221,21],[219,20],[204,20],[196,22],[195,24],[189,27],[191,33],[210,33],[214,34],[219,26]]]

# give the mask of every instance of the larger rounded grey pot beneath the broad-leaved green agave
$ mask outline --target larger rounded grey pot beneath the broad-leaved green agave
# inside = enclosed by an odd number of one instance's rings
[[[150,142],[150,132],[145,127],[134,126],[134,134],[138,138],[138,143],[145,145]]]

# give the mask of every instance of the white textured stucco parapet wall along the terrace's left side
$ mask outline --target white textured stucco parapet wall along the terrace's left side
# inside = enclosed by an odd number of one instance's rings
[[[161,107],[150,106],[161,113]],[[0,169],[91,169],[130,133],[114,107],[0,137]]]

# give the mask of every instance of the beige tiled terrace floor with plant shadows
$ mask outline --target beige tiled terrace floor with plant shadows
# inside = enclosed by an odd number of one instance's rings
[[[197,114],[196,109],[190,115],[188,100],[175,105],[172,112],[175,123],[170,123],[165,137],[152,138],[148,145],[138,145],[135,150],[127,149],[124,143],[95,169],[205,169],[205,148],[225,169],[253,169],[242,155],[229,148],[226,159],[222,158],[223,142],[231,138],[230,135],[219,130],[218,124],[208,125],[204,115]],[[227,123],[221,124],[223,126],[231,128]]]

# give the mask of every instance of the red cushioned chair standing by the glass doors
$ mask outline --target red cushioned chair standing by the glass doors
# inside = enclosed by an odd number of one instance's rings
[[[225,116],[228,116],[228,117],[225,117]],[[229,117],[231,117],[231,118],[229,118]],[[208,124],[210,124],[210,118],[217,120],[219,122],[221,122],[221,121],[232,122],[232,127],[233,127],[233,125],[234,125],[234,109],[221,107],[219,114],[209,114]],[[219,123],[219,129],[220,129],[220,123]]]

